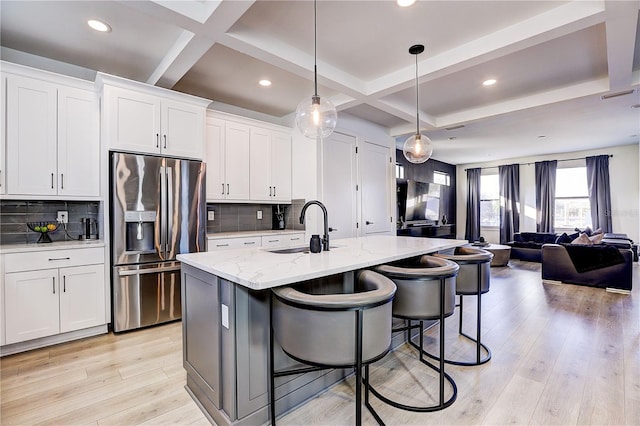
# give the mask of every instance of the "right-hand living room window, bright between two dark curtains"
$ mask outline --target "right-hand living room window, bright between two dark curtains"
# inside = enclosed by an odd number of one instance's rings
[[[558,168],[554,227],[573,230],[586,226],[591,226],[587,168]]]

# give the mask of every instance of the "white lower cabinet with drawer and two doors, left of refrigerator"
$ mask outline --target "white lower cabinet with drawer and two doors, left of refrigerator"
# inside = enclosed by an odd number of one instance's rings
[[[102,248],[7,254],[5,272],[5,344],[106,324]]]

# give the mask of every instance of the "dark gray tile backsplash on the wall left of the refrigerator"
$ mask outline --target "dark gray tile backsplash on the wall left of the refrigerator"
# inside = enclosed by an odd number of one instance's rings
[[[98,232],[102,232],[100,202],[98,201],[0,201],[0,244],[35,243],[40,233],[31,231],[27,222],[56,223],[58,211],[69,212],[67,233],[62,227],[50,232],[52,241],[77,240],[84,234],[83,218],[98,222]],[[67,235],[68,234],[68,235]]]

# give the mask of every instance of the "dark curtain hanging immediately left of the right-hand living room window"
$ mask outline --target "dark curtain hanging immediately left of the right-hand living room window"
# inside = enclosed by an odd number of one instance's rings
[[[536,230],[555,232],[556,169],[558,162],[541,161],[536,166]]]

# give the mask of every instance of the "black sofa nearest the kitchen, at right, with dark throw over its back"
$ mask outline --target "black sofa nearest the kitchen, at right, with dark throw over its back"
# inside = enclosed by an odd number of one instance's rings
[[[586,253],[587,250],[611,250],[620,253],[621,258],[611,256],[592,256],[587,262],[578,263],[571,260],[568,250],[571,247],[560,244],[544,244],[542,246],[542,279],[562,281],[571,284],[580,284],[591,287],[614,288],[619,290],[631,290],[631,273],[633,253],[630,249],[618,249],[610,245],[593,245],[586,248],[578,248]],[[597,254],[597,253],[596,253]],[[603,265],[597,265],[604,259]],[[620,261],[621,263],[617,263]],[[592,262],[589,264],[589,262]],[[580,272],[579,270],[582,270]]]

